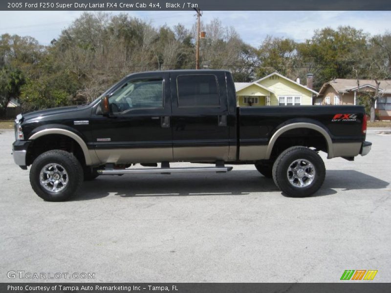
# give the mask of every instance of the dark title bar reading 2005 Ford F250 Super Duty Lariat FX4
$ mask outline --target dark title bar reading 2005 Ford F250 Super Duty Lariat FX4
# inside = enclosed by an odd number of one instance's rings
[[[390,0],[5,0],[8,11],[137,11],[137,10],[391,10]]]

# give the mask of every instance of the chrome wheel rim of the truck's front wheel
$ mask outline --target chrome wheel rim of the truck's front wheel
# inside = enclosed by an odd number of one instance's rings
[[[59,164],[47,164],[41,169],[40,184],[47,191],[59,192],[68,184],[68,173]]]

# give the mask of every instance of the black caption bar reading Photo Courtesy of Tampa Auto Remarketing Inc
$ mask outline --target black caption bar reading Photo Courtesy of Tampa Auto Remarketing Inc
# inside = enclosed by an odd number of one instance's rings
[[[390,283],[0,283],[1,293],[386,293]]]

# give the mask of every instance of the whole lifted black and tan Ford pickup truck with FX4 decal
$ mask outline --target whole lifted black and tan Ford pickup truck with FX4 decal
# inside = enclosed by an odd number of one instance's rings
[[[18,115],[13,156],[31,165],[31,186],[48,201],[98,175],[227,172],[226,164],[255,164],[285,194],[303,197],[325,179],[318,152],[366,155],[366,128],[362,106],[237,107],[228,71],[153,71],[130,74],[89,105]]]

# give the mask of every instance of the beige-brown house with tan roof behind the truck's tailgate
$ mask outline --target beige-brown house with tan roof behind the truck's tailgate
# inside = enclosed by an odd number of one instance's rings
[[[357,93],[374,92],[376,83],[374,80],[334,79],[323,84],[319,95],[314,100],[314,105],[357,105]],[[380,81],[379,93],[382,97],[376,102],[375,108],[382,120],[391,119],[391,81]]]

